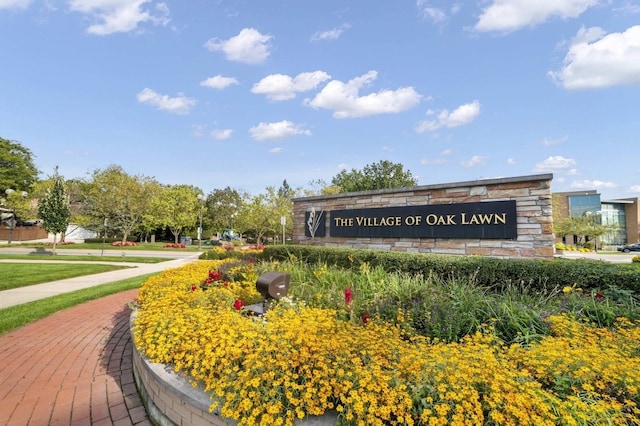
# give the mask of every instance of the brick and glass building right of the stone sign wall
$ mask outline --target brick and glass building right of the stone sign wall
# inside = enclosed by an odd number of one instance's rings
[[[602,200],[596,190],[556,192],[553,196],[554,222],[588,216],[599,224],[614,225],[614,229],[598,238],[598,248],[615,249],[640,241],[640,198]],[[556,236],[556,242],[576,244],[577,237]]]

